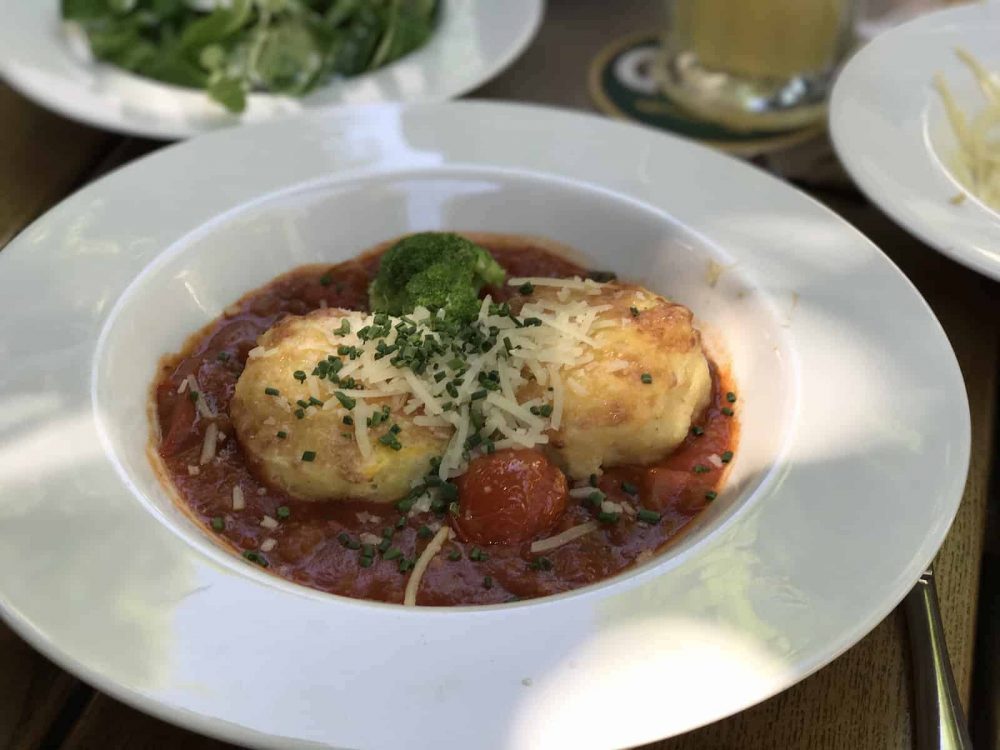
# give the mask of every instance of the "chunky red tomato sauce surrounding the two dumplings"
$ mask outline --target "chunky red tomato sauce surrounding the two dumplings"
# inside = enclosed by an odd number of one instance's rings
[[[580,266],[529,240],[476,238],[512,276],[585,275]],[[374,555],[364,567],[361,534],[390,539],[405,559],[415,559],[448,523],[447,511],[408,517],[393,504],[354,500],[296,500],[258,481],[240,450],[228,417],[229,402],[256,338],[287,315],[321,306],[366,310],[367,288],[378,269],[379,250],[333,266],[307,266],[281,276],[226,309],[196,333],[184,349],[164,358],[154,384],[159,420],[153,446],[165,481],[206,532],[282,578],[343,596],[402,602],[409,572],[397,560]],[[490,290],[503,296],[504,290]],[[182,383],[193,375],[214,419],[203,417]],[[460,535],[445,543],[420,584],[423,605],[494,604],[555,594],[613,576],[660,550],[703,510],[719,491],[736,440],[735,395],[712,367],[712,400],[696,428],[669,456],[651,466],[607,470],[597,481],[607,499],[629,501],[660,514],[657,523],[622,513],[614,522],[561,547],[532,554],[531,542],[475,544]],[[183,392],[182,392],[183,391]],[[220,432],[215,458],[199,463],[210,422]],[[245,507],[233,510],[233,487]],[[460,498],[461,501],[461,498]],[[561,510],[561,506],[560,506]],[[549,511],[547,511],[549,512]],[[277,528],[261,526],[264,516]],[[569,499],[543,536],[595,519],[586,502]],[[475,536],[475,535],[472,535]],[[273,549],[262,551],[265,540]]]

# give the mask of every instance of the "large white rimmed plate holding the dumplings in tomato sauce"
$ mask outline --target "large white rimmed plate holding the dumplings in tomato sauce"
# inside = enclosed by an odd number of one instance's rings
[[[403,608],[273,577],[171,503],[145,455],[157,358],[276,274],[428,229],[545,236],[696,312],[741,439],[665,554],[547,599]],[[947,338],[859,232],[688,141],[509,104],[344,108],[127,166],[0,253],[0,355],[4,618],[249,745],[607,748],[732,714],[889,613],[969,457]]]

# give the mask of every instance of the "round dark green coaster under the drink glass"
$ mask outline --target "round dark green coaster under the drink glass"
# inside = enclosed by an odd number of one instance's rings
[[[738,156],[758,156],[803,143],[824,132],[823,122],[782,131],[731,130],[681,109],[654,76],[660,42],[640,32],[609,44],[591,63],[590,96],[613,117],[634,120],[701,141]]]

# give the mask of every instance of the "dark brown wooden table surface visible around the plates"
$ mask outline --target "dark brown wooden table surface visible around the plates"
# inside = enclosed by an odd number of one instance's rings
[[[650,0],[614,4],[550,0],[546,22],[527,53],[474,96],[590,109],[587,63],[615,36],[656,23],[656,6]],[[0,247],[77,187],[159,145],[69,122],[2,84],[0,123]],[[931,251],[853,191],[811,192],[867,234],[912,279],[941,320],[965,376],[972,412],[972,464],[961,509],[936,566],[948,645],[968,706],[988,481],[995,469],[1000,285]],[[903,618],[895,612],[842,657],[785,693],[650,747],[912,747],[906,649]],[[0,747],[227,746],[102,695],[0,624]]]

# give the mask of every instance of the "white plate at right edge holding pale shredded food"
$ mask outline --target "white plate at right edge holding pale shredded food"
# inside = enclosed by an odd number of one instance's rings
[[[966,112],[983,106],[962,47],[1000,71],[1000,3],[930,13],[876,37],[844,67],[830,100],[837,154],[865,194],[931,247],[1000,280],[1000,213],[949,167],[956,142],[932,86],[941,73]]]

